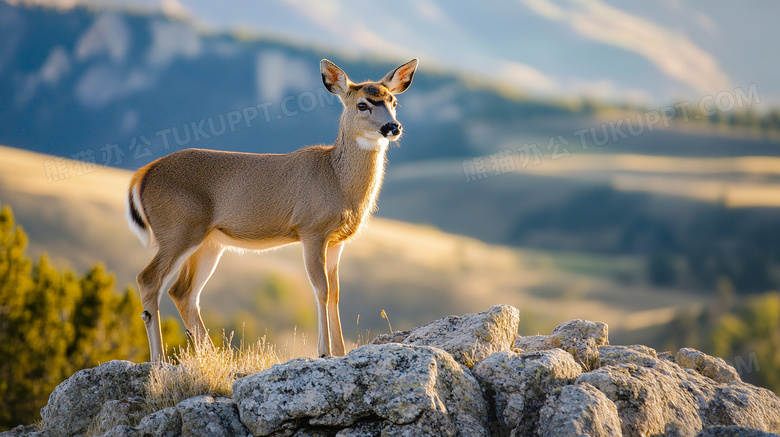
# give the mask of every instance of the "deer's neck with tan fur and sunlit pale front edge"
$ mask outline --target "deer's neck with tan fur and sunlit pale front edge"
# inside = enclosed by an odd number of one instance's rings
[[[372,142],[339,131],[333,146],[333,168],[345,198],[361,221],[368,218],[376,206],[385,175],[387,144],[384,139]]]

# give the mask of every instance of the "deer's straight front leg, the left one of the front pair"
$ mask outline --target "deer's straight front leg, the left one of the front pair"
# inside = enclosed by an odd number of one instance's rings
[[[314,288],[317,298],[317,355],[327,357],[330,355],[330,334],[328,327],[328,273],[325,266],[325,252],[327,242],[322,238],[314,237],[302,239],[303,261],[306,265],[306,273]]]

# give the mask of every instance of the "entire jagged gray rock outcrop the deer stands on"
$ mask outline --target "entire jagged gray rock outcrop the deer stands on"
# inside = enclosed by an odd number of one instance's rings
[[[147,414],[151,364],[74,374],[10,436],[776,436],[780,399],[694,349],[610,345],[573,320],[513,338],[516,309],[491,307],[380,336],[344,357],[301,358]],[[137,424],[133,426],[134,424]]]

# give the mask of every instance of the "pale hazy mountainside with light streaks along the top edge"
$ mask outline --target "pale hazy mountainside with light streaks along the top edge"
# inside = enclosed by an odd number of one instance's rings
[[[534,95],[660,105],[758,83],[766,101],[780,103],[771,76],[780,68],[772,38],[780,5],[766,2],[400,0],[392,11],[347,0],[33,2],[132,6],[361,57],[415,56]]]

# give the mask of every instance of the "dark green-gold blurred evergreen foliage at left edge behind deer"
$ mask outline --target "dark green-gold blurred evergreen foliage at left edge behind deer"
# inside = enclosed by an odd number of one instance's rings
[[[38,420],[51,391],[80,369],[149,359],[137,292],[114,291],[113,275],[100,265],[78,278],[45,255],[33,264],[26,245],[6,206],[0,210],[0,429]],[[163,329],[181,343],[175,322],[167,320]]]

